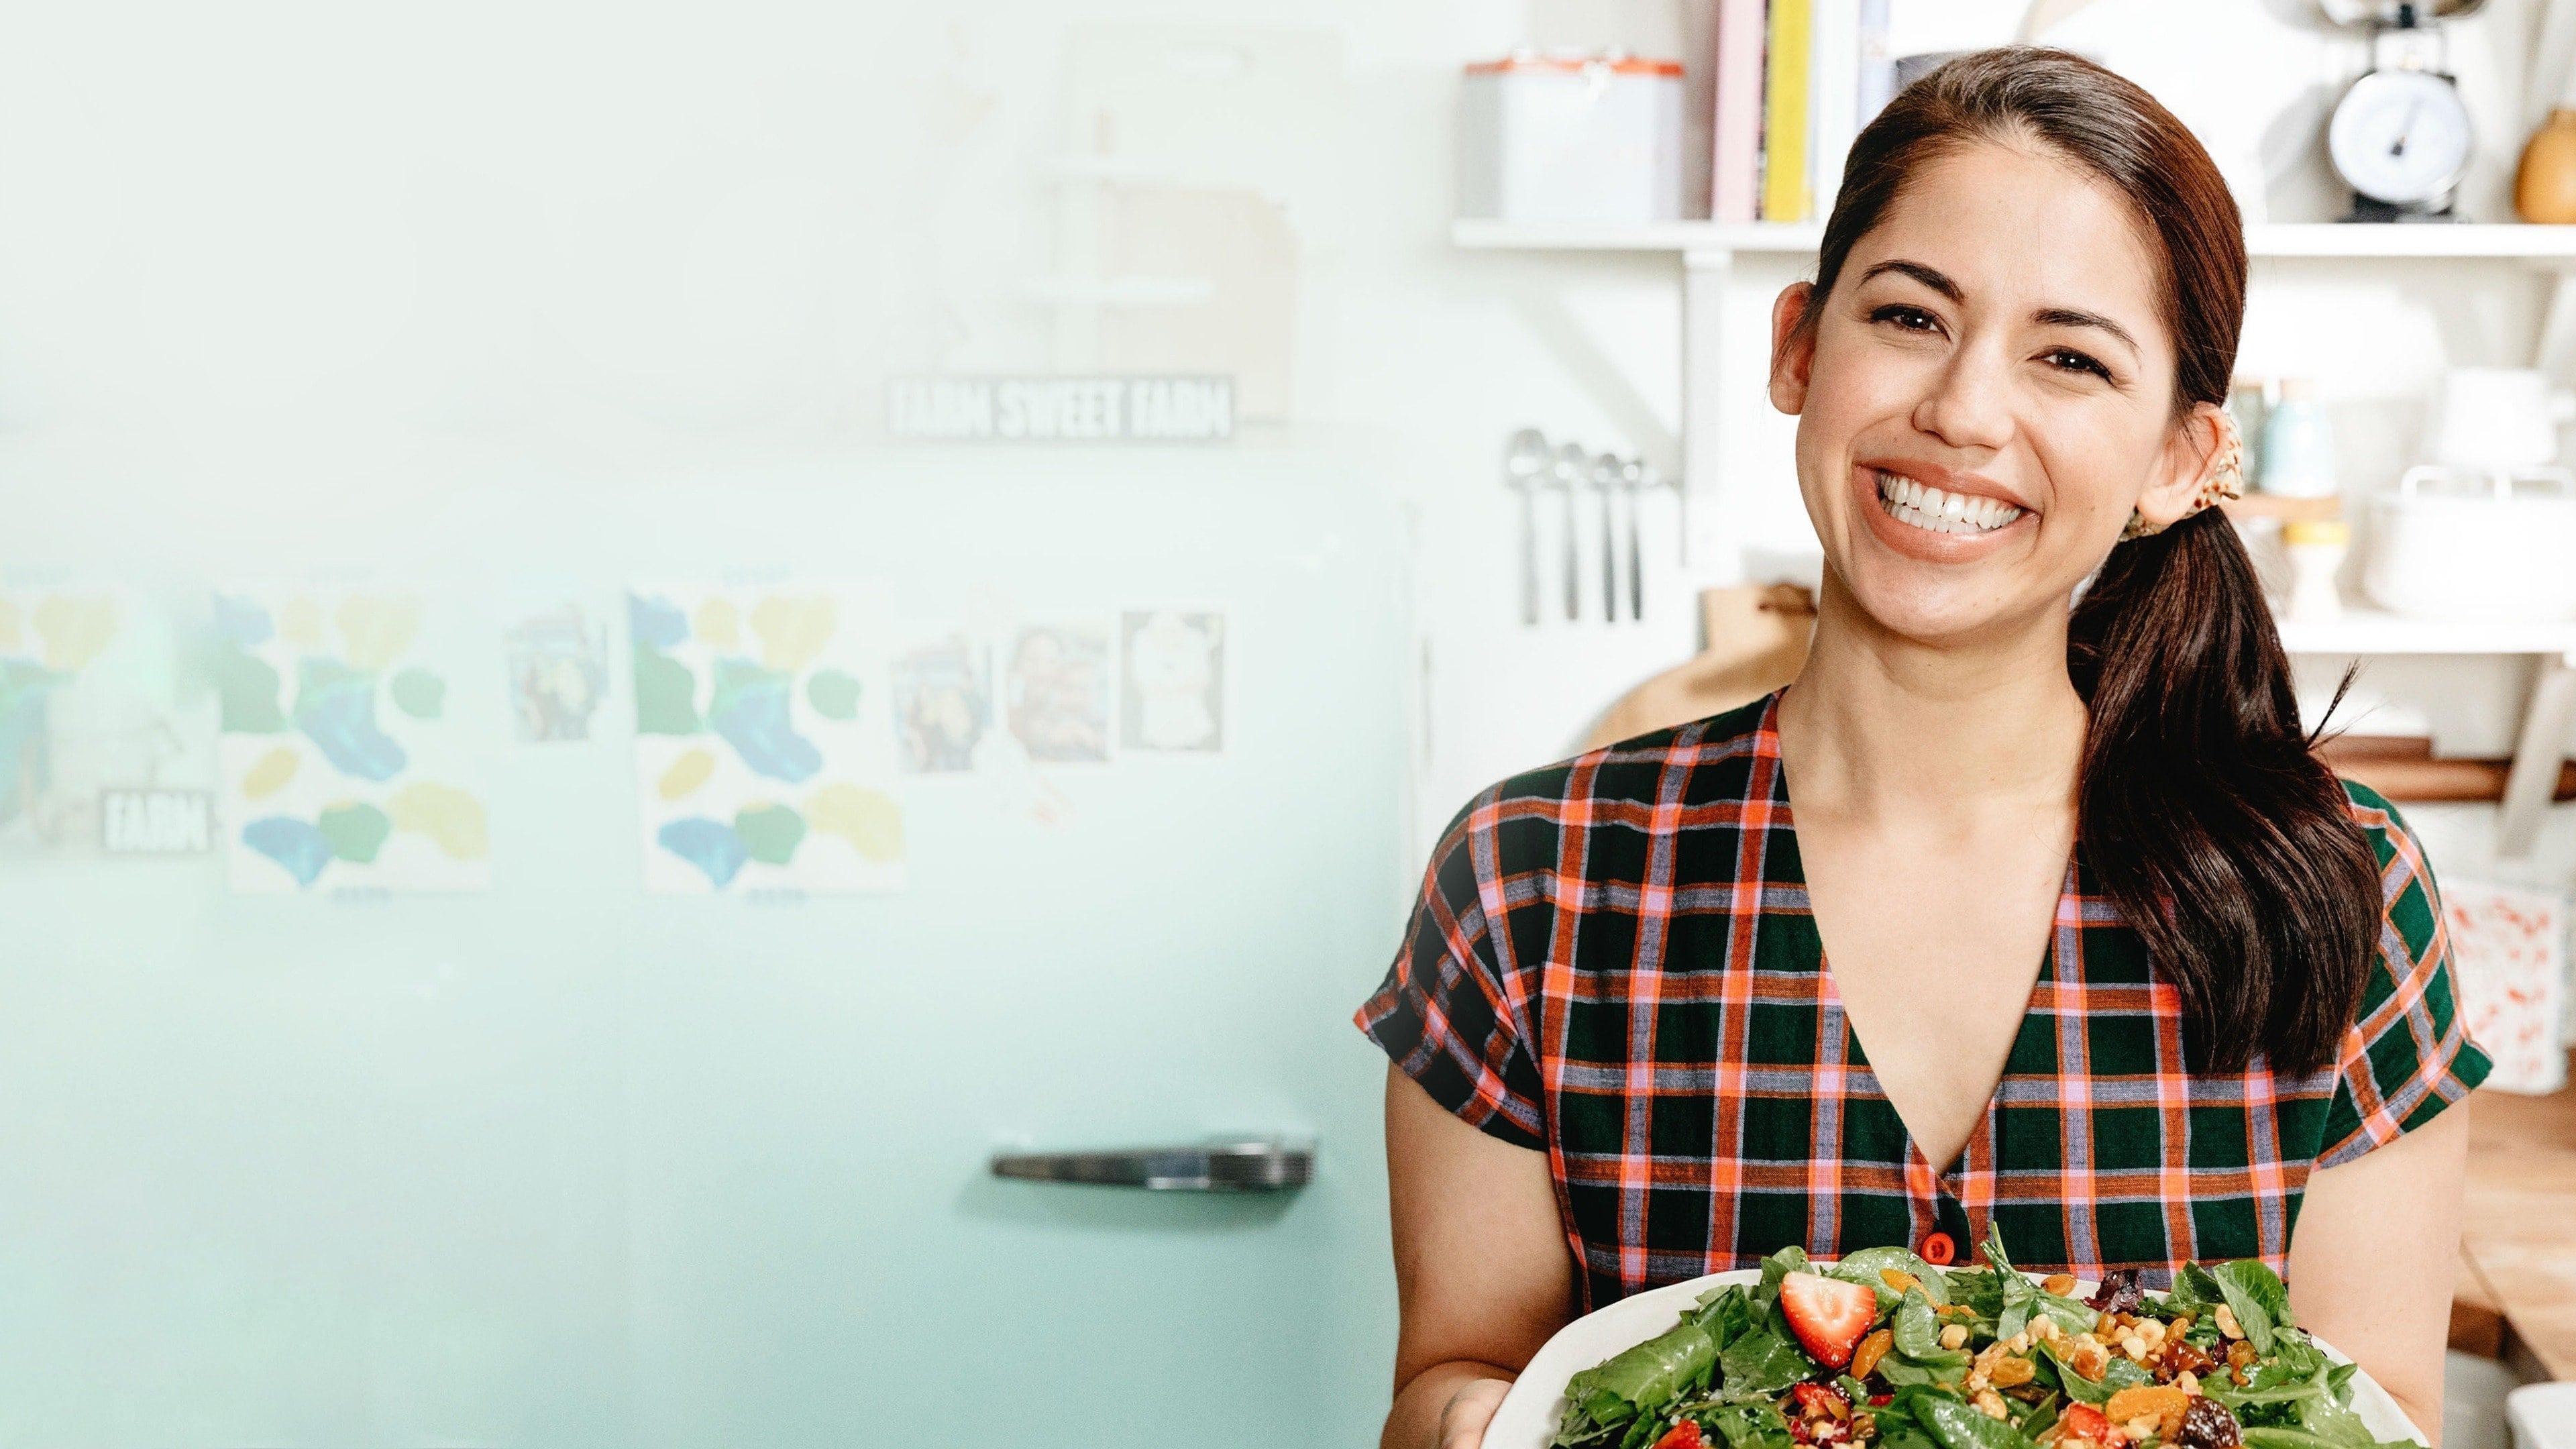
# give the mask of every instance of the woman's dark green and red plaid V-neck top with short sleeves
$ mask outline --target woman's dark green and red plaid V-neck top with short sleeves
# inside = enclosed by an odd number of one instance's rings
[[[2347,786],[2385,923],[2339,1062],[2195,1073],[2174,987],[2081,851],[2002,1083],[1947,1171],[1888,1104],[1808,910],[1777,694],[1512,776],[1432,851],[1360,1029],[1484,1132],[1548,1152],[1584,1307],[1788,1243],[2169,1281],[2282,1269],[2311,1168],[2421,1127],[2486,1078],[2452,1003],[2424,856]]]

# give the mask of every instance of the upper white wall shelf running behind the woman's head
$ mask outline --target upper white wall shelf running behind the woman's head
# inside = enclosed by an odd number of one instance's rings
[[[1450,245],[1489,253],[1736,253],[1803,255],[1824,237],[1816,222],[1450,222]],[[2576,227],[2522,222],[2269,222],[2246,227],[2254,258],[2496,258],[2576,263]]]

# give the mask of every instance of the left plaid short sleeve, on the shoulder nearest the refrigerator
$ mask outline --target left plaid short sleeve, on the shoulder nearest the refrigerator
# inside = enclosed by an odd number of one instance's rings
[[[1355,1021],[1461,1122],[1546,1147],[1530,1013],[1510,969],[1510,931],[1494,918],[1510,910],[1497,810],[1497,792],[1484,792],[1443,830],[1396,959]]]

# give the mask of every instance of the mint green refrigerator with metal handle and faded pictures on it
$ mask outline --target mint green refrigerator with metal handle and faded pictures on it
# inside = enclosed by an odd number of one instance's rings
[[[1376,1439],[1386,477],[204,482],[0,559],[0,1444]]]

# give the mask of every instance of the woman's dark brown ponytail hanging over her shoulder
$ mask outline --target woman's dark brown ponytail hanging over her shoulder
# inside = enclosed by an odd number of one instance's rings
[[[2298,727],[2233,523],[2210,508],[2117,544],[2066,665],[2092,714],[2076,838],[2182,993],[2192,1065],[2329,1065],[2378,946],[2378,856]]]

